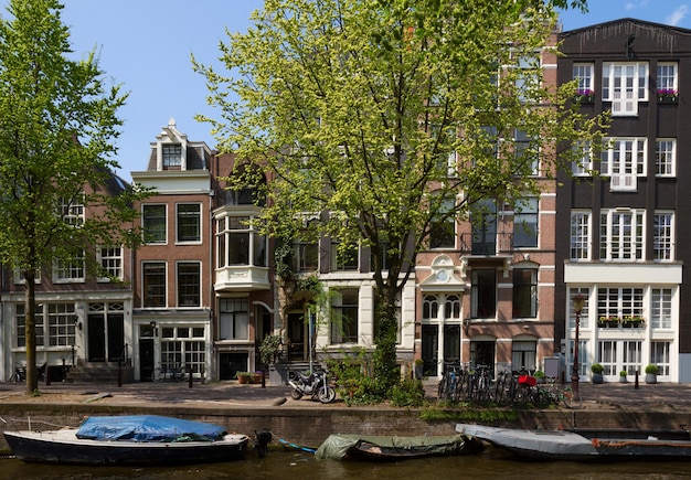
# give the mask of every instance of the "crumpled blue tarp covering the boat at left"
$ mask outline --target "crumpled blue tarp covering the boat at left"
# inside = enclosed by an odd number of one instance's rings
[[[217,425],[158,415],[88,417],[77,438],[129,441],[215,441],[225,429]]]

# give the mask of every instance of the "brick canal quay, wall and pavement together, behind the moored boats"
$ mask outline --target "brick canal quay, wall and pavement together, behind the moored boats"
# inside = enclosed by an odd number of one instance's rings
[[[436,399],[436,382],[425,382],[427,399]],[[223,425],[253,437],[269,430],[306,446],[318,446],[332,433],[362,435],[447,435],[456,422],[426,422],[419,408],[387,404],[347,406],[340,398],[323,405],[290,398],[288,385],[241,385],[235,381],[198,383],[41,384],[26,396],[23,383],[0,384],[0,429],[55,429],[77,426],[94,415],[156,414]],[[517,409],[514,420],[492,425],[559,428],[691,428],[691,385],[581,383],[583,408]],[[495,416],[499,418],[500,416]],[[467,420],[466,420],[467,422]],[[0,450],[7,450],[4,440]]]

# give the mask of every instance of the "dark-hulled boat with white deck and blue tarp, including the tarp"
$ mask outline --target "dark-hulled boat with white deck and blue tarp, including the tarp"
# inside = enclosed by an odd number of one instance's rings
[[[158,415],[88,417],[78,428],[4,431],[25,462],[169,466],[242,459],[249,438],[223,427]]]

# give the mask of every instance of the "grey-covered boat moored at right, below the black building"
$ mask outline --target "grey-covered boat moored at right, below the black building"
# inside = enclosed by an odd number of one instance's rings
[[[540,460],[691,460],[688,430],[528,430],[458,424],[456,431]]]

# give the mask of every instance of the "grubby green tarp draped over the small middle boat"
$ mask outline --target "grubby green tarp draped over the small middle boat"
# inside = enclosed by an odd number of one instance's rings
[[[383,437],[333,434],[319,446],[315,456],[320,460],[341,460],[347,457],[348,450],[361,440],[382,447],[384,454],[414,451],[421,455],[440,456],[458,454],[466,446],[468,438],[465,435]]]

